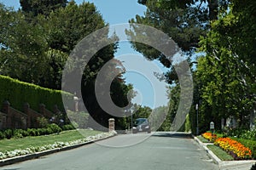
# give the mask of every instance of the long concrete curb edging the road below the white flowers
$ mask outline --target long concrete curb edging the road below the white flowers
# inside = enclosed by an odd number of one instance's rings
[[[111,135],[111,136],[108,136],[108,137],[104,137],[102,139],[95,139],[95,140],[91,140],[91,141],[84,142],[84,143],[81,143],[81,144],[74,144],[74,145],[63,147],[63,148],[56,148],[56,149],[53,149],[53,150],[44,150],[44,151],[41,151],[41,152],[36,152],[36,153],[33,153],[33,154],[29,154],[29,155],[15,156],[15,157],[3,159],[3,160],[0,160],[0,167],[15,164],[15,163],[18,163],[20,161],[28,161],[28,160],[36,159],[38,157],[47,156],[47,155],[54,154],[54,153],[57,153],[57,152],[60,152],[60,151],[73,150],[75,148],[79,148],[79,147],[84,146],[86,144],[92,144],[94,142],[101,141],[101,140],[104,140],[104,139],[109,139],[109,138],[112,138],[114,136],[115,135]]]

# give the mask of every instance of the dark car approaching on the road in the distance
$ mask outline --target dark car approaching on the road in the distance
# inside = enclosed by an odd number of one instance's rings
[[[138,118],[132,127],[132,133],[147,132],[151,133],[150,123],[146,118]]]

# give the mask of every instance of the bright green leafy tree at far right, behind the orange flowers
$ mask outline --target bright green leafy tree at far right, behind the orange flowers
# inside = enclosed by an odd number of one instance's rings
[[[244,4],[252,1],[243,2]],[[202,126],[233,116],[239,126],[248,126],[247,116],[255,110],[255,22],[250,21],[255,3],[250,6],[231,1],[230,10],[219,14],[212,30],[201,38],[201,51],[195,71],[201,96]],[[236,6],[237,5],[237,6]],[[236,8],[235,8],[236,7]]]

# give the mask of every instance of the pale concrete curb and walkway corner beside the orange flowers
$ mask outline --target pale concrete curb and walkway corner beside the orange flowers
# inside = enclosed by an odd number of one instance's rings
[[[250,170],[253,164],[256,162],[256,160],[248,160],[248,161],[221,161],[218,156],[215,156],[212,152],[212,150],[209,150],[207,148],[207,144],[210,143],[202,143],[200,139],[193,136],[195,141],[204,149],[207,151],[208,156],[212,158],[212,161],[214,161],[216,164],[218,164],[218,167],[220,170]]]

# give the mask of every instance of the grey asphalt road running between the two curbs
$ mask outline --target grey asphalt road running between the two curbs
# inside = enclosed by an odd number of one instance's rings
[[[218,166],[183,133],[118,135],[96,144],[0,167],[2,170],[215,170]],[[139,143],[138,143],[139,142]],[[132,144],[132,145],[131,145]],[[126,145],[126,146],[125,146]],[[127,146],[128,145],[128,146]],[[115,146],[115,147],[113,147]]]

